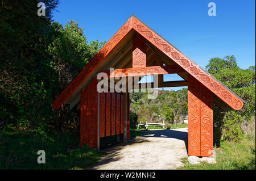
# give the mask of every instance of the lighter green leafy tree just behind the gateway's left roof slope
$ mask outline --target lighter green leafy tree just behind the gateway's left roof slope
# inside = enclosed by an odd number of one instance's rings
[[[48,46],[48,53],[52,57],[51,67],[59,75],[59,86],[62,90],[88,64],[105,42],[99,43],[97,40],[88,44],[83,29],[73,20],[70,20],[65,28],[57,22],[53,22],[52,26],[57,33]]]

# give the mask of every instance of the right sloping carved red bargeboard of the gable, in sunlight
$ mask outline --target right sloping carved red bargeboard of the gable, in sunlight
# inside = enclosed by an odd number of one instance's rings
[[[228,89],[222,86],[214,78],[210,77],[209,74],[199,66],[197,66],[193,61],[187,58],[183,53],[177,50],[173,45],[167,43],[162,37],[152,31],[150,28],[145,26],[141,21],[139,21],[134,16],[133,18],[133,28],[144,36],[150,43],[155,45],[158,49],[162,50],[168,57],[174,60],[178,65],[188,71],[193,77],[195,77],[199,82],[203,83],[210,91],[220,97],[224,102],[226,102],[234,110],[241,110],[243,107],[243,102],[232,94]]]

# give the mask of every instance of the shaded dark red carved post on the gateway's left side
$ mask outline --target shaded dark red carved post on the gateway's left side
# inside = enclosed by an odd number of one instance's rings
[[[94,79],[81,94],[80,145],[88,144],[97,149],[98,138],[98,92],[97,79]]]

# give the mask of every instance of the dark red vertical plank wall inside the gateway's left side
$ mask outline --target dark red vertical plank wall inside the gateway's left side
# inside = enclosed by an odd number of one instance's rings
[[[123,94],[100,93],[100,137],[124,133]]]

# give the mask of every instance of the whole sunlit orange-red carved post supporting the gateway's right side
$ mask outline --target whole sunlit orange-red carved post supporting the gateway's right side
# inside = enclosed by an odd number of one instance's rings
[[[188,75],[188,155],[213,154],[213,93]]]

